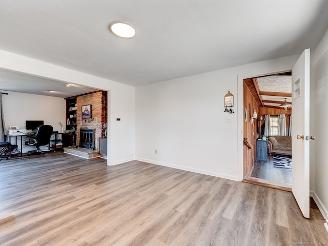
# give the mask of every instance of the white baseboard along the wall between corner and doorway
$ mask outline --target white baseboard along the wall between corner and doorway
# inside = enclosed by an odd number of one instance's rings
[[[185,171],[189,171],[189,172],[193,172],[193,173],[200,173],[200,174],[210,175],[210,176],[214,176],[214,177],[226,178],[226,179],[238,181],[237,176],[226,175],[226,174],[216,173],[216,172],[209,172],[209,171],[206,171],[206,170],[201,170],[201,169],[196,169],[196,168],[189,168],[189,167],[184,167],[184,166],[178,166],[178,165],[173,165],[171,163],[155,161],[155,160],[149,160],[149,159],[144,159],[144,158],[135,158],[135,159],[139,160],[139,161],[144,161],[144,162],[152,163],[152,164],[155,164],[155,165],[159,165],[159,166],[175,168],[175,169],[185,170]]]

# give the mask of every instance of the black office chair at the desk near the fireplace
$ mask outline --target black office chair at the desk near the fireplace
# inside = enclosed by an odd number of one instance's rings
[[[36,150],[28,151],[27,154],[28,155],[38,154],[38,153],[45,154],[46,151],[40,150],[40,146],[49,145],[52,132],[53,132],[52,126],[49,125],[39,126],[36,129],[36,133],[33,136],[33,138],[29,139],[27,142],[28,145],[35,146]]]

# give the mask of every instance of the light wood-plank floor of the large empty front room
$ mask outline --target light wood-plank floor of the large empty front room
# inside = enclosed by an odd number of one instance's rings
[[[57,153],[0,161],[0,245],[328,243],[292,193],[150,163]]]

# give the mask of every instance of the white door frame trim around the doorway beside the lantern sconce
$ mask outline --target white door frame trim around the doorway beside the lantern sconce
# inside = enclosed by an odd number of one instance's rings
[[[295,61],[296,62],[296,61]],[[268,69],[268,70],[263,70],[263,71],[257,71],[257,72],[251,72],[251,73],[245,73],[245,74],[238,74],[238,80],[237,80],[237,91],[238,91],[238,103],[237,103],[237,108],[238,108],[238,115],[237,115],[237,129],[238,129],[238,134],[237,134],[237,176],[238,176],[238,181],[242,181],[244,179],[243,177],[243,124],[244,124],[244,112],[243,112],[243,79],[245,78],[251,78],[251,77],[260,77],[260,76],[265,76],[265,75],[270,75],[270,74],[277,74],[277,73],[284,73],[284,72],[290,72],[292,71],[293,67],[290,68],[285,68],[285,69],[279,69],[279,70],[274,70],[274,69]]]

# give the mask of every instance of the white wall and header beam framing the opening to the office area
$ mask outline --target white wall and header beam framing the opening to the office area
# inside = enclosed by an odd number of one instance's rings
[[[134,159],[134,87],[3,50],[0,50],[0,69],[110,91],[108,165]]]

